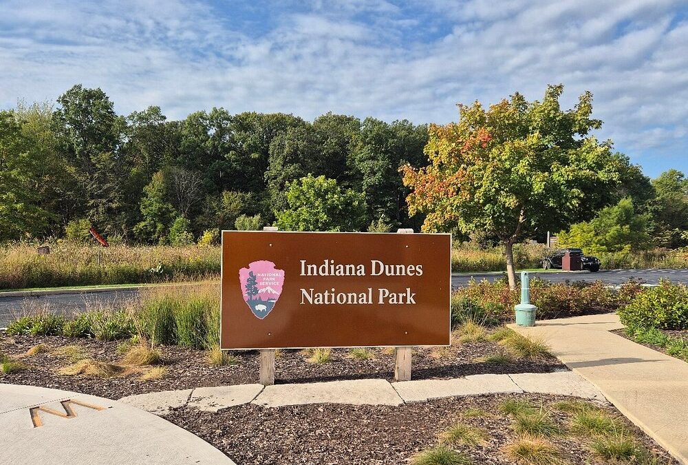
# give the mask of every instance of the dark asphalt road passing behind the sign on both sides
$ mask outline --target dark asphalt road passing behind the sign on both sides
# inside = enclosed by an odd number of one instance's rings
[[[502,274],[473,273],[451,277],[451,285],[459,287],[466,285],[471,278],[480,281],[497,280]],[[662,279],[688,284],[688,269],[632,269],[632,270],[602,270],[597,273],[530,273],[530,277],[537,276],[551,282],[565,281],[596,281],[602,280],[610,285],[620,285],[630,278],[647,284],[657,284]],[[6,327],[15,318],[36,309],[48,309],[65,313],[75,313],[84,309],[97,308],[98,305],[125,304],[127,300],[138,297],[138,289],[118,289],[116,291],[62,293],[50,296],[3,297],[0,293],[0,328]]]

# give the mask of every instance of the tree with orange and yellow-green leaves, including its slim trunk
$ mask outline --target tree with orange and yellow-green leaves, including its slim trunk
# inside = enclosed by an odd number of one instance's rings
[[[562,92],[550,85],[542,101],[530,103],[517,93],[488,110],[477,101],[459,105],[458,123],[429,127],[431,164],[402,167],[412,189],[409,213],[427,214],[423,231],[497,236],[510,287],[515,243],[538,228],[558,231],[589,219],[619,183],[623,156],[590,134],[602,124],[591,117],[592,94],[563,111]]]

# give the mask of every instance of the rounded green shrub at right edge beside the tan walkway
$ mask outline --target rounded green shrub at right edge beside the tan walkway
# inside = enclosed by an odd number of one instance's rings
[[[630,328],[688,329],[688,287],[661,280],[619,310]]]

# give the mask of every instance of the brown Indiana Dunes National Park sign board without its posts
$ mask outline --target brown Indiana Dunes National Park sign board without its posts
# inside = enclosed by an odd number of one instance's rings
[[[222,232],[222,349],[449,344],[449,234]]]

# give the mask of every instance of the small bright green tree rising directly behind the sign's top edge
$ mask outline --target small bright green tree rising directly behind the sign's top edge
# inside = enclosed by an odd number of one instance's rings
[[[361,231],[366,225],[365,196],[341,189],[325,176],[305,176],[288,184],[289,208],[275,211],[286,231]]]

